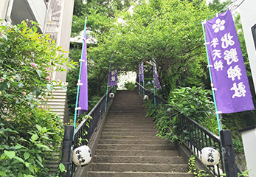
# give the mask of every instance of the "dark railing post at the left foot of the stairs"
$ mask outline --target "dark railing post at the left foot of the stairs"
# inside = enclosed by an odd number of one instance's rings
[[[64,164],[66,169],[66,172],[62,173],[63,177],[70,176],[73,133],[74,133],[74,127],[72,125],[66,125],[64,138],[63,138],[63,145],[62,145],[62,157],[61,157],[61,163]]]

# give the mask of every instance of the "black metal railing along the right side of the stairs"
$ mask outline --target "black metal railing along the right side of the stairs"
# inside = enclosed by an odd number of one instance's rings
[[[136,83],[136,91],[138,91],[140,95],[143,95],[143,90],[150,100],[154,98],[153,92],[143,88],[139,83]],[[170,103],[167,103],[167,101],[156,95],[156,106],[159,105],[165,105],[165,110],[170,119],[173,119],[174,117],[176,118],[177,136],[179,136],[184,145],[193,152],[198,159],[201,159],[201,149],[204,147],[215,147],[216,150],[221,151],[221,140],[218,136],[198,124],[195,120],[185,117],[175,109],[170,109]],[[220,154],[221,162],[219,164],[215,166],[207,166],[212,175],[218,177],[224,173],[223,157],[222,153]]]

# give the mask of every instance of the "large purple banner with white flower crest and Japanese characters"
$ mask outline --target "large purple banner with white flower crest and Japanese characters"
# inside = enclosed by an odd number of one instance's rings
[[[230,10],[207,21],[205,29],[218,111],[226,114],[254,109]]]

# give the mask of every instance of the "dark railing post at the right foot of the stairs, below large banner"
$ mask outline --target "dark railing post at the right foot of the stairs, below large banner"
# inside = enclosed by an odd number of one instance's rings
[[[235,163],[235,152],[230,131],[220,131],[222,150],[224,153],[224,166],[227,177],[237,177],[238,168]]]

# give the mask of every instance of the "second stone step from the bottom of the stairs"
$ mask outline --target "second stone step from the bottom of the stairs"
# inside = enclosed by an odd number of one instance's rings
[[[188,172],[188,164],[91,163],[91,171]]]

